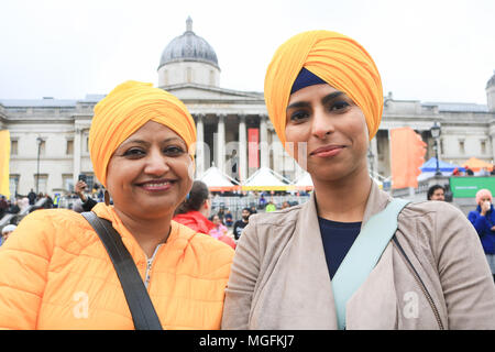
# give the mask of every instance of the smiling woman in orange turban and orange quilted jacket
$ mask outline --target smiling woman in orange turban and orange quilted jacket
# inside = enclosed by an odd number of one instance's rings
[[[111,222],[164,329],[218,329],[233,250],[172,220],[193,185],[195,122],[170,94],[127,81],[95,107],[89,151]],[[0,251],[0,328],[134,329],[99,237],[72,210],[38,210]]]

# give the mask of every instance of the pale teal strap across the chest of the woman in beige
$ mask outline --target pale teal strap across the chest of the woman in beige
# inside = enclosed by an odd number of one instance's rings
[[[345,305],[375,267],[383,251],[397,231],[397,217],[410,200],[393,199],[370,218],[355,239],[332,278],[339,330],[345,328]]]

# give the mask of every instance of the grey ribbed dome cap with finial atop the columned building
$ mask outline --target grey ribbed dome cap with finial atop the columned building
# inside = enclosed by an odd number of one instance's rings
[[[193,32],[190,16],[186,21],[186,32],[175,37],[163,51],[158,69],[176,62],[201,62],[219,68],[217,54],[211,45]]]

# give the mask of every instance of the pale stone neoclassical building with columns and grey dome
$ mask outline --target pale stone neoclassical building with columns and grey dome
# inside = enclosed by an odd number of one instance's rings
[[[187,19],[186,31],[162,53],[157,87],[183,100],[196,121],[196,176],[200,177],[215,164],[241,182],[262,166],[290,180],[297,179],[301,169],[279,143],[267,117],[263,92],[222,88],[220,75],[215,50],[193,31],[193,21]],[[394,128],[416,130],[428,144],[426,158],[433,156],[430,129],[435,122],[441,125],[438,150],[441,160],[462,163],[475,156],[493,162],[495,75],[485,90],[486,105],[395,100],[392,94],[386,95],[382,124],[370,146],[370,169],[389,176],[389,131]],[[0,97],[0,129],[8,129],[12,141],[12,194],[25,195],[30,189],[52,195],[69,191],[79,174],[86,174],[89,184],[98,182],[89,158],[88,132],[92,109],[103,97],[87,95],[73,100]]]

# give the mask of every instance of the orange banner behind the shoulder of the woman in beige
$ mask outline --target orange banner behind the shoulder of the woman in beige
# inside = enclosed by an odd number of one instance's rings
[[[391,130],[392,188],[418,187],[426,146],[411,128]]]

